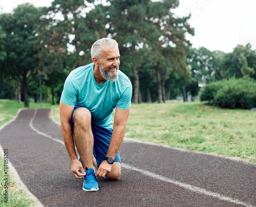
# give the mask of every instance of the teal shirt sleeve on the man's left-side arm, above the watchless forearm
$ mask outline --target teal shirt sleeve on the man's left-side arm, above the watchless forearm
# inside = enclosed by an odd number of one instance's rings
[[[65,81],[60,100],[68,106],[75,106],[76,104],[77,92],[69,76]]]

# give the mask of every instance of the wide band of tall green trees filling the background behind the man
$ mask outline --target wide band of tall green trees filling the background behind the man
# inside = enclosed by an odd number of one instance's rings
[[[193,48],[187,40],[194,35],[190,15],[174,15],[178,6],[178,0],[19,5],[0,15],[0,86],[11,97],[21,96],[28,107],[29,98],[39,100],[42,81],[43,99],[54,104],[68,73],[92,61],[91,45],[102,37],[117,40],[120,70],[132,81],[135,103],[162,102],[179,93],[186,101],[188,94],[198,94],[199,85],[231,76],[256,79],[256,53],[250,44],[228,54]]]

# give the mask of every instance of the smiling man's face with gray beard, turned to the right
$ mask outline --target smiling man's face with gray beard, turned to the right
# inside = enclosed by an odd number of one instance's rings
[[[99,70],[105,80],[115,82],[118,79],[120,54],[118,47],[105,47],[99,59]]]

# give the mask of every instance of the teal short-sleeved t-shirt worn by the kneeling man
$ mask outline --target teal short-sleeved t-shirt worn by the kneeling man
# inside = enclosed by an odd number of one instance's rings
[[[87,108],[92,114],[92,122],[112,127],[112,112],[131,108],[132,84],[120,70],[115,82],[106,81],[99,85],[94,79],[94,63],[81,66],[70,72],[60,100],[68,106]]]

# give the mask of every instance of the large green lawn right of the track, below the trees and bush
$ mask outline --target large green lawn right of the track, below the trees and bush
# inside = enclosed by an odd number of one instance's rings
[[[59,122],[58,106],[53,117]],[[114,115],[114,113],[113,113]],[[256,111],[205,102],[132,104],[125,137],[256,162]]]

